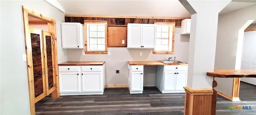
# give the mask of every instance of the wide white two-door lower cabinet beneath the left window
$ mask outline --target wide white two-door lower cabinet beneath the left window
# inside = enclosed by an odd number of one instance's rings
[[[104,65],[59,66],[60,95],[102,95],[105,86]]]

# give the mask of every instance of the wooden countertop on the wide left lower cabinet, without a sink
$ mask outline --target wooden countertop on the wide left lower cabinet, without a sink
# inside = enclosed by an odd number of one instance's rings
[[[103,65],[105,61],[66,61],[58,65]]]

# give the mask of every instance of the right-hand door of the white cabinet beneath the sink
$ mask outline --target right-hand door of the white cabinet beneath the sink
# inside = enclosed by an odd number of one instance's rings
[[[184,90],[187,85],[187,72],[177,71],[176,74],[176,90]]]

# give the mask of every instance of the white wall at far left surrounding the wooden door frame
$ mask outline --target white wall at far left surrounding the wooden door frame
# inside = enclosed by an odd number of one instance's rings
[[[0,3],[0,114],[30,115],[27,67],[26,61],[22,61],[22,54],[26,54],[22,5],[56,20],[57,44],[61,44],[60,22],[64,22],[64,13],[43,0]],[[66,51],[58,45],[58,62],[66,61],[65,55]]]

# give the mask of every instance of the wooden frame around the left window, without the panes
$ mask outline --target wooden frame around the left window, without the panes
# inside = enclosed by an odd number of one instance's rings
[[[105,25],[105,51],[88,51],[87,24],[104,24]],[[108,54],[108,22],[97,20],[84,20],[84,52],[86,54]]]

